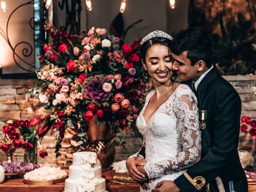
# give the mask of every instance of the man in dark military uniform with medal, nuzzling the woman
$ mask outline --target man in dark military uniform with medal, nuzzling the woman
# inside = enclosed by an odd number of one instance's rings
[[[212,64],[209,35],[199,27],[181,31],[174,37],[171,50],[173,70],[183,82],[192,82],[191,88],[198,98],[201,160],[174,181],[159,182],[152,192],[218,192],[222,186],[226,192],[248,192],[237,151],[241,100]],[[139,154],[145,157],[143,148]],[[142,170],[140,167],[143,166],[137,166],[138,170]],[[218,186],[217,177],[222,181]]]

